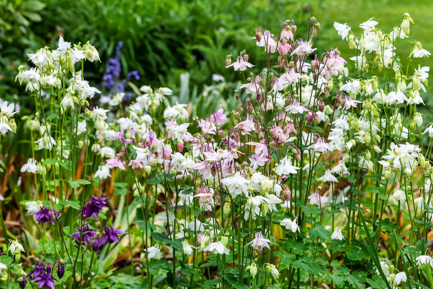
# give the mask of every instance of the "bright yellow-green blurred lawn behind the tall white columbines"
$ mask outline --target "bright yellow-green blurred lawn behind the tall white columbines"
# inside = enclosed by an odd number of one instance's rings
[[[319,2],[321,1],[317,1],[317,3]],[[332,24],[333,21],[347,23],[352,27],[355,35],[361,30],[358,27],[359,24],[371,17],[379,22],[377,27],[381,28],[384,33],[390,33],[393,27],[400,26],[401,12],[407,12],[414,20],[414,24],[410,25],[410,37],[407,39],[420,41],[424,49],[433,53],[433,17],[431,16],[433,1],[431,0],[328,0],[322,3],[326,8],[322,19],[319,21],[328,23],[328,25]],[[333,40],[332,43],[338,46],[344,58],[354,56],[355,51],[348,49],[347,42],[335,39],[335,30],[332,31],[330,27],[327,28],[326,31],[323,31],[323,37]],[[398,48],[398,55],[401,57],[404,69],[407,65],[406,57],[410,53],[410,44],[407,39],[402,39]],[[409,74],[418,64],[433,67],[433,56],[415,59],[410,64]],[[429,91],[433,92],[431,88]]]

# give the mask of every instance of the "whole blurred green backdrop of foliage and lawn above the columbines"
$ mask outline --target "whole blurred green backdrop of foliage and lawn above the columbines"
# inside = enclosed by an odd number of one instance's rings
[[[180,86],[181,73],[189,73],[190,89],[201,93],[212,84],[212,74],[227,82],[240,80],[238,73],[224,68],[230,53],[246,49],[255,70],[265,66],[262,48],[255,46],[255,30],[261,25],[277,34],[282,21],[293,18],[295,37],[306,37],[308,19],[315,16],[322,31],[314,39],[318,51],[338,47],[343,58],[355,55],[333,28],[333,22],[348,23],[359,33],[359,23],[375,17],[385,33],[400,26],[401,12],[415,24],[410,39],[433,51],[433,1],[403,0],[0,0],[0,97],[14,99],[24,94],[15,83],[16,68],[28,63],[26,53],[45,45],[56,47],[58,36],[71,43],[90,43],[100,52],[101,62],[85,67],[85,77],[98,84],[107,59],[123,41],[122,73],[138,70],[138,85]],[[401,42],[404,68],[409,43]],[[433,57],[433,56],[432,56]],[[430,66],[432,57],[418,59],[413,68]],[[428,90],[430,95],[432,89]],[[430,97],[424,97],[431,105]]]

